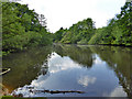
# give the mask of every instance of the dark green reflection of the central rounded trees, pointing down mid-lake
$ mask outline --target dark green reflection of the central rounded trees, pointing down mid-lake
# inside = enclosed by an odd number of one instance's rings
[[[68,56],[77,64],[86,67],[92,66],[92,52],[88,46],[58,45],[54,50],[61,56]]]

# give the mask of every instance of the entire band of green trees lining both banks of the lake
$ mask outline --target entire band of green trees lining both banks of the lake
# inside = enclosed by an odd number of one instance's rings
[[[2,8],[3,55],[53,42],[132,46],[132,2],[125,2],[121,12],[105,28],[96,29],[96,23],[88,18],[69,29],[61,28],[55,33],[47,31],[45,16],[30,10],[28,4],[2,2],[0,8]]]

